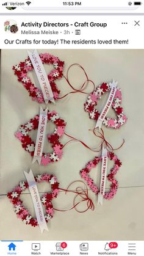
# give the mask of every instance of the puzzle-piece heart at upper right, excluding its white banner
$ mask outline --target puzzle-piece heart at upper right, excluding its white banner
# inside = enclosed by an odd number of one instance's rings
[[[87,98],[87,102],[84,104],[84,109],[89,113],[90,119],[98,120],[100,115],[98,109],[95,106],[98,104],[98,100],[103,96],[105,92],[109,92],[111,90],[110,84],[106,84],[103,82],[100,86],[96,87]],[[124,115],[123,108],[121,107],[121,89],[117,88],[115,93],[115,97],[113,98],[112,108],[117,115],[117,119],[112,119],[109,117],[105,117],[103,124],[111,127],[111,128],[120,128],[121,125],[126,123],[126,115]]]

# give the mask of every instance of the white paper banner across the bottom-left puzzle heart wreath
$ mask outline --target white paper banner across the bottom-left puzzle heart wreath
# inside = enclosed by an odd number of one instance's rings
[[[43,213],[43,207],[41,205],[40,195],[37,189],[37,183],[35,182],[32,170],[29,171],[29,174],[27,172],[24,172],[24,175],[26,176],[26,180],[29,184],[29,191],[31,192],[32,202],[34,203],[37,222],[40,227],[41,233],[43,233],[44,230],[48,231],[48,226],[46,224],[45,216]]]

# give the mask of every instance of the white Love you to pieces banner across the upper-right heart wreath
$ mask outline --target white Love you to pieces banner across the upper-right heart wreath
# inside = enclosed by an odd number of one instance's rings
[[[95,128],[99,127],[99,130],[101,130],[103,120],[105,119],[107,113],[109,112],[110,107],[112,106],[113,98],[115,97],[115,93],[117,91],[117,83],[118,82],[115,82],[114,79],[113,79],[112,83],[111,82],[109,83],[109,85],[111,87],[111,90],[109,93],[109,98],[107,99],[107,102],[103,108],[103,111],[99,115],[99,118],[98,118],[98,120],[96,122],[96,126],[95,126]]]

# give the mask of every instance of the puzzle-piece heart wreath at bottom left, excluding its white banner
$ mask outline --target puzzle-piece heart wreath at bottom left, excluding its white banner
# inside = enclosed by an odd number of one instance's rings
[[[45,205],[46,214],[45,220],[46,222],[49,221],[54,216],[54,209],[51,203],[51,200],[56,198],[59,194],[59,183],[57,182],[57,178],[54,175],[43,174],[37,175],[35,177],[35,181],[40,183],[41,181],[46,181],[47,183],[51,184],[51,192],[46,193],[43,197],[41,197],[41,202]],[[17,214],[19,219],[27,225],[32,225],[33,227],[38,226],[37,219],[33,218],[29,211],[26,210],[23,206],[23,201],[20,199],[21,193],[29,188],[29,185],[26,181],[21,181],[20,185],[16,186],[12,192],[7,194],[9,197],[10,202],[14,205],[15,213]]]

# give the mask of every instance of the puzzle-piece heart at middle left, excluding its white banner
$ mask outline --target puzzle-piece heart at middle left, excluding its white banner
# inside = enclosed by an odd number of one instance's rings
[[[52,153],[43,153],[41,156],[41,164],[47,166],[49,163],[54,163],[62,158],[62,148],[63,145],[60,143],[59,139],[63,136],[65,132],[65,121],[60,119],[59,114],[56,111],[48,111],[48,121],[52,121],[56,125],[54,133],[48,134],[48,141],[52,144]],[[29,136],[29,131],[37,130],[39,122],[39,115],[35,115],[34,119],[29,120],[28,123],[21,125],[16,131],[15,136],[21,141],[24,150],[29,152],[31,156],[34,156],[35,142],[32,141]]]

